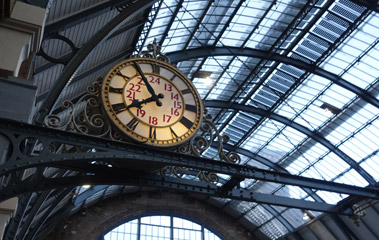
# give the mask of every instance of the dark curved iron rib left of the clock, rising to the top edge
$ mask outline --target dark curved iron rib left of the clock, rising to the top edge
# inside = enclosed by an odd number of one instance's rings
[[[43,102],[37,118],[36,123],[41,124],[44,117],[51,111],[54,107],[55,102],[66,87],[67,84],[73,79],[74,75],[78,71],[79,66],[88,58],[90,54],[93,53],[95,48],[105,41],[116,28],[125,20],[132,19],[140,12],[151,7],[157,0],[142,0],[137,1],[135,4],[128,7],[126,10],[122,11],[119,15],[113,18],[109,23],[107,23],[102,29],[100,29],[88,42],[82,47],[71,59],[71,61],[63,69],[61,75],[56,80],[56,85],[51,89],[49,95]]]

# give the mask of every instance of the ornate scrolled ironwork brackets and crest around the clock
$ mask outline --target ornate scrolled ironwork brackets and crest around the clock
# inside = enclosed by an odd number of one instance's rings
[[[156,40],[147,45],[146,51],[141,51],[137,56],[140,58],[150,58],[170,64],[170,59],[161,52],[161,47]],[[99,77],[77,102],[66,100],[63,102],[60,114],[50,114],[44,119],[44,125],[70,132],[84,135],[108,138],[116,141],[130,142],[131,139],[125,136],[109,120],[102,108],[100,97],[101,84],[103,79]],[[217,148],[212,146],[217,141]],[[221,135],[212,121],[212,116],[204,110],[203,121],[198,133],[189,141],[174,148],[171,151],[193,156],[206,156],[215,161],[239,164],[240,156],[235,152],[226,152],[223,144],[229,141],[227,135]],[[61,146],[60,149],[66,149]],[[80,150],[80,149],[79,149]],[[79,151],[78,150],[78,151]],[[210,154],[214,152],[214,154]],[[177,178],[199,179],[210,183],[218,183],[219,177],[213,172],[204,172],[198,169],[189,169],[180,166],[166,166],[160,170],[161,175],[174,176]]]

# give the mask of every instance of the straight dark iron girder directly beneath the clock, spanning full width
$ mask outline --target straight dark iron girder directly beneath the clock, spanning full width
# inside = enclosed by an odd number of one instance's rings
[[[25,123],[12,122],[2,119],[0,121],[0,133],[6,136],[13,149],[10,159],[1,165],[0,177],[9,175],[16,177],[17,173],[24,169],[38,167],[57,167],[78,170],[81,172],[95,172],[97,174],[105,173],[112,175],[112,171],[118,171],[130,167],[127,164],[132,162],[151,164],[159,168],[163,166],[183,166],[191,169],[198,169],[207,172],[215,172],[230,175],[236,178],[251,178],[262,181],[269,181],[281,184],[294,185],[299,187],[308,187],[349,195],[363,196],[367,198],[379,199],[379,189],[374,187],[357,187],[341,183],[329,182],[324,180],[306,178],[288,173],[262,170],[250,166],[242,166],[227,162],[216,161],[208,158],[190,156],[176,152],[168,152],[158,149],[150,149],[146,146],[135,145],[124,142],[115,142],[108,139],[99,139],[96,137],[63,132],[56,129],[38,127]],[[18,145],[22,139],[38,139],[44,146],[39,157],[24,155]],[[96,149],[96,152],[75,152],[75,153],[52,153],[48,146],[59,142],[60,144],[74,145],[81,148]],[[93,161],[105,161],[112,166],[94,165]],[[78,169],[75,165],[78,164]],[[146,166],[146,165],[145,165]],[[40,173],[40,174],[38,174]],[[36,172],[33,179],[39,180],[44,178],[43,171]],[[12,175],[13,174],[13,175]],[[16,175],[14,175],[16,174]],[[109,176],[109,175],[107,175]],[[64,177],[62,177],[64,178]],[[18,179],[15,183],[17,186],[2,186],[1,199],[7,199],[16,194],[33,191],[35,186],[27,183],[33,179]],[[49,178],[51,181],[52,178]],[[13,183],[14,184],[14,183]],[[106,183],[104,183],[106,184]],[[38,184],[37,184],[38,185]],[[53,185],[51,185],[53,187]],[[233,190],[234,191],[234,190]]]

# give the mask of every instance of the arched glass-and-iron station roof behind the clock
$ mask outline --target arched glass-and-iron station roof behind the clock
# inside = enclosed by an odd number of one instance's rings
[[[49,56],[67,61],[61,64],[37,57],[36,123],[51,112],[64,114],[60,108],[64,100],[77,99],[97,76],[104,76],[112,65],[156,39],[193,81],[218,130],[230,136],[225,149],[241,154],[242,164],[378,187],[379,15],[375,1],[50,3],[42,48]],[[75,50],[54,38],[57,34],[67,38]],[[361,198],[329,191],[221,177],[227,188],[239,186],[317,203],[339,202],[341,208],[362,203]],[[78,188],[72,212],[128,190],[138,189]],[[54,205],[65,197],[65,192],[56,191],[25,201],[34,202],[35,211],[48,209],[54,212],[50,216],[60,219],[63,208]],[[235,217],[255,236],[317,237],[307,227],[311,220],[302,219],[301,209],[228,198],[203,200]],[[370,214],[378,218],[377,207],[373,209]],[[348,230],[345,219],[337,215],[306,212],[323,224],[320,234],[339,239],[342,231],[354,239],[362,233]],[[27,220],[27,227],[44,224],[42,218],[32,223],[32,215]],[[373,237],[379,237],[371,223],[363,220],[363,224]],[[20,231],[26,232],[27,227]]]

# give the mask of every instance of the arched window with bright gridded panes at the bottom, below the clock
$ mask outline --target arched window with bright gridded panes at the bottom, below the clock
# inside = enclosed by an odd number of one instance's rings
[[[203,225],[175,216],[145,216],[109,231],[104,240],[222,240]]]

